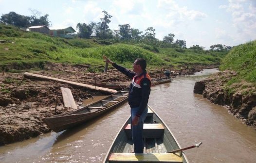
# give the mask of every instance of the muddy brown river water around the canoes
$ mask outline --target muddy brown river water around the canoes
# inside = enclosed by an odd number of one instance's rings
[[[191,163],[256,163],[256,130],[227,109],[193,94],[195,81],[216,70],[152,87],[149,105],[162,117]],[[124,104],[101,118],[59,133],[0,147],[0,163],[101,163],[129,116]]]

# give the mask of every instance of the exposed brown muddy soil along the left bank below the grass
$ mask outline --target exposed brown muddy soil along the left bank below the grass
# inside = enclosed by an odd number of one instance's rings
[[[216,66],[213,65],[208,68],[212,67]],[[203,68],[205,67],[183,67],[182,70],[176,70],[174,74],[193,74]],[[106,82],[131,81],[115,69],[108,70],[105,75],[103,75],[104,73],[88,73],[87,69],[87,65],[70,66],[48,63],[44,65],[43,71],[30,73],[91,85],[93,85],[95,79],[96,81],[105,80]],[[155,79],[160,78],[160,72],[161,70],[148,70],[151,78]],[[95,78],[95,76],[98,77]],[[111,78],[113,76],[116,77]],[[164,77],[164,74],[162,74],[162,77]],[[71,108],[64,108],[60,87],[71,89],[78,108],[83,106],[82,101],[84,99],[104,94],[99,91],[76,88],[57,81],[27,79],[24,78],[23,73],[0,74],[0,145],[22,141],[49,132],[51,130],[41,120],[43,117],[73,111]]]

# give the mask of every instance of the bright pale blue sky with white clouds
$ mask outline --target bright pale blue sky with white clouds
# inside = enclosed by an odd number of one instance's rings
[[[33,10],[49,15],[50,29],[75,30],[77,23],[100,22],[107,11],[111,30],[119,24],[144,33],[153,27],[159,40],[173,33],[187,48],[256,40],[256,0],[0,0],[0,16],[11,11],[32,16]]]

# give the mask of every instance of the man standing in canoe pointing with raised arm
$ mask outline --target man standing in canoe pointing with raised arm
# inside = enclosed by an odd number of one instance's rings
[[[144,142],[142,137],[143,124],[147,115],[147,102],[150,94],[151,79],[146,73],[146,61],[138,58],[133,63],[133,71],[117,65],[103,56],[107,63],[113,65],[117,70],[132,78],[128,104],[131,112],[131,135],[135,153],[143,153]]]

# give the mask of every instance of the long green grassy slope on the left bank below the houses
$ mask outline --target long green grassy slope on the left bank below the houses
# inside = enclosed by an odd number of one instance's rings
[[[102,55],[131,67],[136,58],[146,58],[151,67],[178,65],[219,64],[224,53],[192,49],[155,49],[143,45],[104,45],[93,39],[66,40],[41,33],[21,31],[13,26],[0,24],[0,39],[14,43],[0,43],[0,66],[45,61],[70,64],[104,65]],[[104,41],[103,41],[104,42]]]

